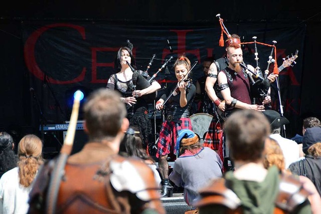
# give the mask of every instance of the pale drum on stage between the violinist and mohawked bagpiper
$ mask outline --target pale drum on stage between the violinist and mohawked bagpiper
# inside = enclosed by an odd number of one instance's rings
[[[190,116],[193,131],[201,138],[201,144],[203,144],[205,135],[209,130],[213,116],[206,113],[198,113]]]

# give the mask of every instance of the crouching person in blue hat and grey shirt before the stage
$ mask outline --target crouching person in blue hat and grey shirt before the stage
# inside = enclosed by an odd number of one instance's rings
[[[175,185],[184,187],[184,199],[192,206],[199,188],[212,178],[222,177],[223,162],[214,150],[203,147],[199,137],[189,129],[180,130],[177,145],[179,157],[169,177]]]

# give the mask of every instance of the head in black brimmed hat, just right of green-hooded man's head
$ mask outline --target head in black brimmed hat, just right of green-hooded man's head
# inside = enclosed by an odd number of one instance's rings
[[[280,133],[280,127],[282,125],[289,124],[290,122],[283,116],[281,116],[277,111],[265,110],[263,111],[264,116],[270,123],[271,132],[274,134]]]

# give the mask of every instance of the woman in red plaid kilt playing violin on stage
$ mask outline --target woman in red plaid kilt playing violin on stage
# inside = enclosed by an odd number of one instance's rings
[[[162,124],[157,142],[156,157],[158,158],[158,170],[162,177],[162,196],[171,196],[173,187],[169,182],[168,156],[175,160],[177,153],[176,140],[182,129],[192,129],[189,117],[192,103],[196,93],[196,87],[189,78],[191,69],[190,60],[182,56],[174,64],[175,76],[178,80],[176,90],[167,90],[156,102],[156,109],[166,108],[166,117]],[[173,92],[171,91],[173,90]],[[170,97],[169,99],[167,99]],[[165,103],[165,100],[167,102]]]

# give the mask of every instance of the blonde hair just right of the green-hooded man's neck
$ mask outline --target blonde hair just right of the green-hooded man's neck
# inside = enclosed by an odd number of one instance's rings
[[[263,165],[267,169],[272,165],[276,165],[280,171],[285,169],[285,160],[280,145],[272,138],[267,137],[264,147]]]

